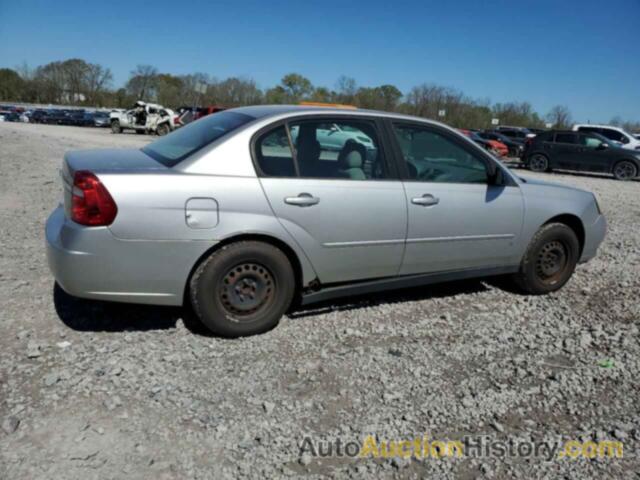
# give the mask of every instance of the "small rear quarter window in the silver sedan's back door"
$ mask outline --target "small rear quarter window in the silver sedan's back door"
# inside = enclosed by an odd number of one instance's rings
[[[264,175],[295,177],[293,153],[284,125],[260,136],[256,141],[256,160]]]

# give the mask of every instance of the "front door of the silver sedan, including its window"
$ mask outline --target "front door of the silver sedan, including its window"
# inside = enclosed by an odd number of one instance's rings
[[[409,228],[400,274],[511,267],[524,205],[503,176],[491,184],[483,153],[448,130],[393,123],[396,156],[406,177]]]

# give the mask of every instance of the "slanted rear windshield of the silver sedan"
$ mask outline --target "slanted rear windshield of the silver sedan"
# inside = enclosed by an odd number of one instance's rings
[[[252,120],[255,118],[243,113],[229,111],[216,113],[150,143],[142,151],[171,168],[192,153]]]

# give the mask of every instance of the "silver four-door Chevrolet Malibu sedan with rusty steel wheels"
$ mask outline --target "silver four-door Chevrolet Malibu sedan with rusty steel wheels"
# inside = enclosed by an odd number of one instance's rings
[[[327,129],[350,134],[328,148]],[[365,110],[227,110],[140,150],[69,152],[61,177],[46,243],[65,291],[190,303],[223,336],[294,304],[438,281],[552,292],[606,230],[589,192],[521,179],[442,124]]]

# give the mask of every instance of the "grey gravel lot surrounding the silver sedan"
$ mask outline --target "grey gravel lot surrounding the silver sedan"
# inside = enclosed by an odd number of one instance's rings
[[[556,294],[456,282],[322,304],[225,340],[182,309],[54,288],[43,230],[64,152],[152,138],[0,123],[0,478],[638,478],[639,182],[537,175],[595,192],[610,225]],[[305,436],[369,433],[620,439],[624,458],[300,452]]]

